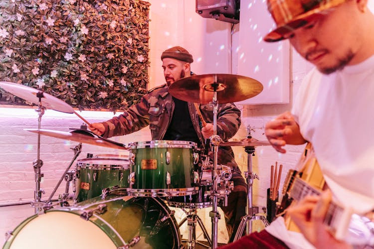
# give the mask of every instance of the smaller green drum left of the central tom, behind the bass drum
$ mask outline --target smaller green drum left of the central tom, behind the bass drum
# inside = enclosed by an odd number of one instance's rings
[[[104,188],[129,187],[127,159],[84,158],[76,165],[75,201],[81,202],[101,195]]]

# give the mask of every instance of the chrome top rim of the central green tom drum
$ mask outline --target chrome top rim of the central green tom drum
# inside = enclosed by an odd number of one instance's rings
[[[197,143],[183,140],[151,140],[138,141],[129,144],[132,149],[137,148],[193,148]]]

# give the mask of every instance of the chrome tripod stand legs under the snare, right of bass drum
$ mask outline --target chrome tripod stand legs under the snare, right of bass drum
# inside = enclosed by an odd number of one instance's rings
[[[181,221],[178,225],[179,228],[187,221],[188,227],[188,240],[187,240],[187,249],[195,248],[195,244],[199,244],[202,247],[211,248],[211,240],[209,238],[208,233],[202,223],[200,217],[197,216],[197,210],[195,208],[189,209],[188,211],[182,209],[186,213],[186,217]],[[198,241],[196,241],[196,222],[200,226],[202,233],[204,234],[204,238],[207,240],[209,246],[206,246]]]

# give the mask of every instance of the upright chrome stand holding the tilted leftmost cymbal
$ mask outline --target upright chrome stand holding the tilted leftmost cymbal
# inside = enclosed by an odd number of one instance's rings
[[[38,109],[35,112],[38,113],[38,129],[40,129],[41,117],[45,113],[45,107],[42,106],[41,98],[43,98],[43,92],[37,92],[36,97],[39,98]],[[43,174],[40,171],[41,166],[43,166],[43,161],[40,159],[40,134],[38,134],[37,142],[37,153],[36,160],[32,161],[32,166],[35,173],[35,191],[34,191],[34,201],[31,202],[31,207],[35,208],[35,214],[41,211],[41,207],[44,203],[41,201],[41,194],[45,194],[44,190],[40,189],[40,182],[43,178]]]

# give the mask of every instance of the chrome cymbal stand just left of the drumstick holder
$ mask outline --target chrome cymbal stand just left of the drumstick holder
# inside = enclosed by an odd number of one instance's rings
[[[247,138],[252,138],[251,129],[254,130],[248,125]],[[252,206],[253,180],[254,179],[259,180],[258,175],[252,172],[252,156],[254,156],[254,151],[255,151],[254,146],[245,146],[245,152],[247,152],[247,170],[248,170],[244,172],[245,178],[247,179],[247,214],[243,216],[233,241],[237,241],[242,236],[245,227],[247,227],[246,235],[249,235],[250,233],[252,233],[252,221],[253,220],[261,220],[265,224],[265,226],[269,225],[269,222],[266,220],[265,216],[258,215],[259,208]]]

